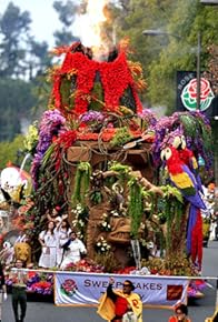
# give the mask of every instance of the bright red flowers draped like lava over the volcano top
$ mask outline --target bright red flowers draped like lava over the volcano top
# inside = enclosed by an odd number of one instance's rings
[[[110,63],[92,61],[81,52],[68,52],[66,54],[62,67],[54,72],[52,90],[54,105],[63,113],[65,107],[61,103],[60,97],[61,80],[62,76],[70,73],[72,70],[77,73],[77,91],[75,93],[75,108],[72,111],[76,115],[87,112],[89,104],[87,98],[90,97],[97,71],[100,73],[105,92],[105,110],[117,111],[121,95],[130,87],[136,101],[137,113],[141,112],[142,104],[138,98],[137,87],[123,51]]]

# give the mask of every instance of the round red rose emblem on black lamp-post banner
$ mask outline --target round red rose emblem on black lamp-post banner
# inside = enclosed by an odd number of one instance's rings
[[[192,79],[184,88],[181,92],[181,101],[189,111],[197,109],[197,79]],[[209,108],[215,94],[210,88],[210,83],[205,78],[200,79],[200,111]]]

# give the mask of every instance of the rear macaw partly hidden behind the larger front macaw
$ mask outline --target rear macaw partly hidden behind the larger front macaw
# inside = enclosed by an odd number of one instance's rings
[[[199,167],[194,152],[187,148],[185,135],[176,137],[172,142],[172,147],[175,147],[179,152],[179,158],[181,161],[189,167],[191,172],[195,174],[198,190],[204,194],[202,182],[199,174]]]

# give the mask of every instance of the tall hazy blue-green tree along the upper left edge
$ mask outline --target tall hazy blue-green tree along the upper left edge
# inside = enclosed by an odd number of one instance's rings
[[[48,43],[30,34],[30,13],[21,12],[12,2],[0,17],[0,141],[11,141],[21,133],[23,122],[31,122],[32,108],[40,115],[38,110],[44,103],[43,76],[52,58]]]

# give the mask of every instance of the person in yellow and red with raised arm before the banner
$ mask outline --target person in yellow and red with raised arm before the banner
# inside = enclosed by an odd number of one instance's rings
[[[122,290],[113,290],[115,280],[109,280],[107,292],[100,299],[98,314],[110,322],[142,322],[142,302],[135,293],[135,285],[126,280]]]

